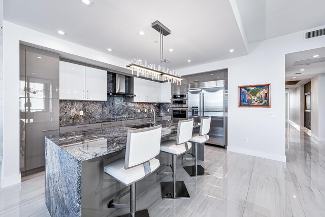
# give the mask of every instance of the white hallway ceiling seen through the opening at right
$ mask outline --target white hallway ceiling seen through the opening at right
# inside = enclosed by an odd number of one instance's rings
[[[311,80],[312,77],[325,73],[325,62],[312,63],[310,65],[293,65],[299,60],[316,59],[312,57],[316,54],[319,55],[317,58],[325,57],[325,47],[285,55],[285,81],[294,81],[293,77],[296,77],[295,80],[300,81],[296,85],[287,85],[286,87],[297,87],[299,85],[306,84]],[[300,71],[300,69],[305,70]],[[295,73],[302,74],[295,75]]]

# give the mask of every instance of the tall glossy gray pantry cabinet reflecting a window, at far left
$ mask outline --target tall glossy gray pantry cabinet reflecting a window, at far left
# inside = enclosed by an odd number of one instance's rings
[[[20,45],[20,171],[44,170],[45,136],[59,133],[59,54]]]

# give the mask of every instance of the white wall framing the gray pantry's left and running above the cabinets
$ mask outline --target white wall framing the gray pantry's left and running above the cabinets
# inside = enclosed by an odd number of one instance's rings
[[[2,187],[21,182],[19,171],[19,42],[125,67],[129,61],[4,21],[4,110]]]

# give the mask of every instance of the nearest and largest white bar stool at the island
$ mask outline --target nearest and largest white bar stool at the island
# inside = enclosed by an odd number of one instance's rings
[[[154,158],[160,152],[160,139],[161,125],[127,131],[125,158],[107,164],[104,171],[125,186],[131,186],[129,191],[109,201],[108,208],[130,208],[130,213],[122,216],[149,216],[148,209],[136,211],[136,182],[160,166]],[[130,204],[113,204],[128,192]]]

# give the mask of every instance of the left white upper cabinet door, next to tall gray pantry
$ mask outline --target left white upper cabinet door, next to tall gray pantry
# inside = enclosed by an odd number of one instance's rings
[[[85,66],[60,61],[60,99],[85,99]]]

